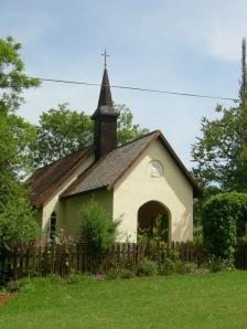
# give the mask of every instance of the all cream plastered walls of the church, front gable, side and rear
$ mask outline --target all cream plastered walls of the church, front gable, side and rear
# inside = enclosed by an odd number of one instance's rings
[[[151,161],[162,166],[162,174],[150,173]],[[57,215],[57,230],[63,229],[73,237],[79,234],[80,210],[92,193],[60,200],[60,194],[94,161],[90,156],[73,176],[44,203],[42,232],[49,234],[53,211]],[[137,241],[138,210],[149,201],[158,201],[170,215],[170,241],[193,240],[193,188],[173,158],[158,139],[142,152],[111,191],[94,194],[112,219],[121,219],[119,241]]]

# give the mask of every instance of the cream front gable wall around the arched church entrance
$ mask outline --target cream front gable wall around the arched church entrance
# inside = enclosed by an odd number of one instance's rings
[[[150,161],[163,166],[162,177],[150,176]],[[153,141],[114,190],[114,219],[121,216],[121,236],[137,238],[139,208],[148,201],[159,201],[171,213],[170,240],[193,240],[193,189],[162,144]]]

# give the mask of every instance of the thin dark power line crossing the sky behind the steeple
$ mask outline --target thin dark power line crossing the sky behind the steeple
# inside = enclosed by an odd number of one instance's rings
[[[44,82],[53,82],[53,83],[63,83],[63,84],[74,84],[74,85],[85,85],[85,86],[101,86],[96,83],[87,83],[87,82],[76,82],[76,81],[66,81],[66,79],[55,79],[55,78],[44,78],[44,77],[35,77]],[[221,100],[232,100],[234,103],[238,103],[239,99],[233,97],[222,97],[222,96],[212,96],[212,95],[201,95],[201,94],[190,94],[190,93],[179,93],[171,91],[161,91],[161,89],[149,89],[149,88],[139,88],[131,86],[120,86],[120,85],[110,85],[111,88],[118,89],[130,89],[138,92],[149,92],[149,93],[159,93],[159,94],[169,94],[169,95],[178,95],[178,96],[189,96],[189,97],[198,97],[198,98],[211,98],[211,99],[221,99]]]

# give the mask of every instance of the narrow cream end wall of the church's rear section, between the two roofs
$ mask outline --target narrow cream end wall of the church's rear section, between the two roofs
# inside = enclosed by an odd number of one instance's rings
[[[60,201],[60,194],[82,173],[84,172],[94,161],[94,155],[88,157],[83,164],[77,168],[74,173],[63,183],[57,190],[44,202],[42,212],[42,233],[43,236],[50,234],[50,219],[53,211],[57,215],[57,230],[63,229],[64,211],[63,204]]]

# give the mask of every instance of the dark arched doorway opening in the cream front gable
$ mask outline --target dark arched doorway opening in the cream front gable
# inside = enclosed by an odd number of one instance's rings
[[[138,236],[152,237],[157,232],[161,240],[170,240],[170,212],[158,201],[149,201],[138,210]]]

